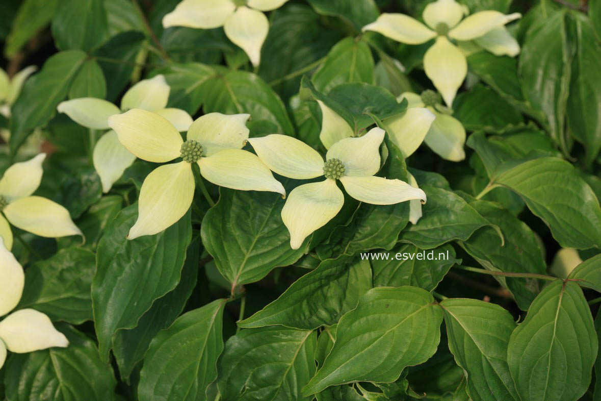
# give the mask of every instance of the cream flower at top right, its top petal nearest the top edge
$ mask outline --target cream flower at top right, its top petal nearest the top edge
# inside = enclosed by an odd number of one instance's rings
[[[495,55],[514,57],[519,44],[505,28],[518,19],[520,13],[505,15],[487,10],[463,18],[467,11],[455,0],[437,0],[424,8],[426,25],[404,14],[380,15],[364,26],[363,31],[375,31],[406,44],[422,44],[436,38],[424,55],[424,70],[434,86],[451,107],[457,90],[468,73],[468,63],[460,49],[451,40],[474,41]],[[431,28],[428,28],[428,26]]]

